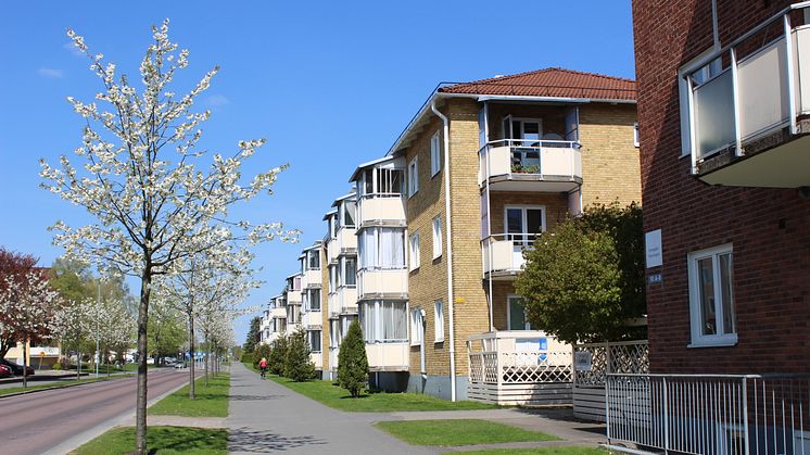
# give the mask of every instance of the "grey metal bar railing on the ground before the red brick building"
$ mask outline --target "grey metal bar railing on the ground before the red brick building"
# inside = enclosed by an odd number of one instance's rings
[[[809,400],[808,375],[608,375],[608,443],[684,454],[810,454]]]

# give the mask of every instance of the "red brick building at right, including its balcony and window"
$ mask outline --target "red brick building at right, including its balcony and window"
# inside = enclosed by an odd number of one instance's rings
[[[789,5],[633,1],[645,231],[662,247],[653,372],[810,372],[810,40]]]

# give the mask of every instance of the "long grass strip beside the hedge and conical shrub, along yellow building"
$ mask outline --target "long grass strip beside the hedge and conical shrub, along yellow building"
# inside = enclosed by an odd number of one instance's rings
[[[353,399],[345,389],[332,386],[331,381],[294,382],[287,378],[268,375],[269,379],[316,400],[327,406],[349,413],[393,413],[397,410],[464,410],[492,409],[491,404],[436,399],[419,393],[366,393]]]

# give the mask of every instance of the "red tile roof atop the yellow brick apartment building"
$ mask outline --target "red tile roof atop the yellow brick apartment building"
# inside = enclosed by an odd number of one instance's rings
[[[456,84],[439,89],[444,93],[473,93],[518,97],[590,98],[596,100],[636,99],[635,80],[582,73],[565,68],[545,68],[511,76]]]

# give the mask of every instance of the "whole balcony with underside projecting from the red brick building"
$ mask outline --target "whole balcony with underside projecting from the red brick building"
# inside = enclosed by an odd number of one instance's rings
[[[793,26],[794,10],[801,3],[685,75],[692,169],[700,180],[810,186],[810,26]]]

